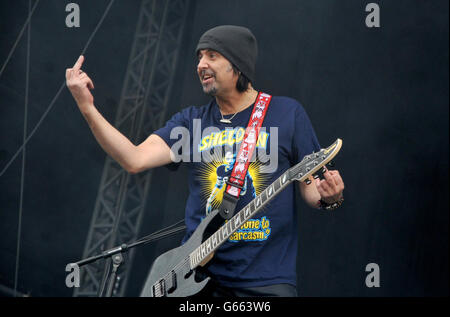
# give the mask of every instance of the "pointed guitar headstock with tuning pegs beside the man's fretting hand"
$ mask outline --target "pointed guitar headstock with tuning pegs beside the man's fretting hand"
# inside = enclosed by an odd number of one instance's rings
[[[330,163],[342,147],[342,140],[337,139],[326,149],[306,155],[300,163],[289,169],[289,178],[300,182],[310,182],[309,177]]]

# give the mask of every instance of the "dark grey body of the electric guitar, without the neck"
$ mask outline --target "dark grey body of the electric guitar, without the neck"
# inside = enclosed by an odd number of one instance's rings
[[[208,233],[220,220],[218,213],[218,210],[214,210],[206,216],[184,245],[156,258],[142,289],[141,297],[192,296],[206,286],[210,278],[196,280],[196,270],[190,269],[189,254],[208,238]]]

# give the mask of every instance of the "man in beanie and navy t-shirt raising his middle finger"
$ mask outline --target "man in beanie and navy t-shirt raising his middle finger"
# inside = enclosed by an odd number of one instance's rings
[[[261,116],[258,104],[255,106],[261,93],[252,85],[257,43],[250,30],[230,25],[208,30],[200,38],[196,54],[197,74],[203,92],[212,96],[212,100],[200,107],[181,110],[139,145],[131,143],[95,107],[90,92],[94,84],[81,70],[84,57],[80,56],[73,68],[66,70],[67,86],[96,140],[129,173],[169,164],[177,167],[181,162],[171,147],[178,140],[170,137],[171,131],[175,127],[189,130],[191,160],[182,162],[189,167],[189,198],[185,210],[187,232],[182,244],[204,219],[207,205],[221,204],[226,186],[218,192],[215,186],[217,175],[214,176],[217,167],[229,161],[225,153],[231,150],[237,155],[243,144],[240,131],[247,127],[252,114],[255,120]],[[214,133],[202,134],[200,144],[193,143],[195,119],[201,120],[202,127],[216,129]],[[271,152],[270,159],[277,160],[277,169],[268,173],[255,151],[247,173],[257,195],[305,155],[320,150],[304,108],[294,99],[271,97],[261,127],[266,134],[260,132],[254,144],[259,150],[276,146],[276,153]],[[271,130],[274,127],[277,133],[267,133],[275,131]],[[208,152],[214,159],[196,162],[192,159],[194,151]],[[309,206],[331,210],[343,201],[344,183],[337,170],[327,169],[323,176],[324,179],[308,179],[312,185],[301,182],[300,194]],[[234,238],[221,244],[207,266],[211,281],[199,295],[297,296],[298,223],[294,189],[293,184],[287,185],[260,214],[239,226]],[[246,190],[240,195],[236,210],[252,199],[252,191]]]

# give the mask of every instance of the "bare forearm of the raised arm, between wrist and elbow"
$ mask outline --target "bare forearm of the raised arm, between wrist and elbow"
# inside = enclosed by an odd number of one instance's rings
[[[113,127],[94,105],[80,107],[80,109],[83,109],[81,113],[103,150],[125,170],[134,173],[138,166],[137,147]]]

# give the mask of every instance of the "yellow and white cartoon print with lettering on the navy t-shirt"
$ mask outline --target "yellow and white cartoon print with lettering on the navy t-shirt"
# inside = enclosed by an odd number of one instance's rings
[[[223,140],[222,144],[217,145],[233,145],[242,142],[241,130],[243,128],[238,128],[234,131],[235,133],[230,133],[230,130],[224,130],[216,133],[215,135],[223,136],[215,138],[214,135],[208,136],[209,140]],[[257,147],[265,148],[267,145],[268,133],[260,134],[258,138]],[[203,138],[203,147],[199,145],[199,151],[205,150],[205,140]],[[262,141],[261,141],[262,140]],[[214,141],[211,142],[211,147],[216,147]],[[208,144],[208,143],[206,143]],[[235,151],[235,150],[234,150]],[[214,152],[212,159],[209,162],[201,162],[198,168],[198,180],[200,181],[202,187],[202,196],[205,201],[205,215],[209,214],[212,210],[219,208],[222,203],[223,193],[226,188],[226,181],[229,179],[231,172],[233,170],[234,163],[236,161],[236,152],[230,147],[228,150],[224,150],[224,154]],[[269,174],[261,173],[261,162],[258,160],[250,162],[247,173],[245,175],[244,186],[240,193],[240,199],[245,201],[251,201],[257,195],[261,193],[268,185]],[[230,242],[238,241],[264,241],[270,235],[270,220],[267,217],[249,219],[244,223],[230,238]]]

